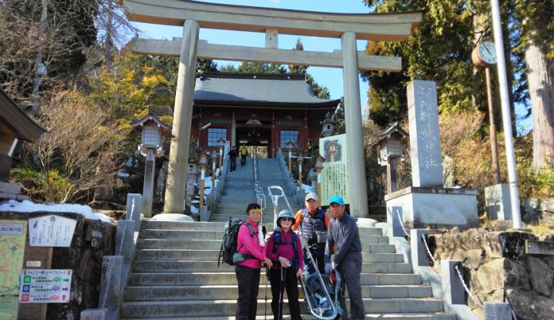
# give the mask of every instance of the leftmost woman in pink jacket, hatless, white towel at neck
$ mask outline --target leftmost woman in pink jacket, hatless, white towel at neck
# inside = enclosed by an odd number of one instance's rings
[[[244,261],[235,263],[238,282],[237,320],[255,320],[258,308],[258,289],[260,287],[260,267],[262,263],[271,267],[271,260],[265,256],[265,243],[262,226],[262,210],[259,204],[249,204],[247,220],[240,226],[237,236],[237,251]],[[249,224],[251,228],[247,225]],[[253,234],[251,234],[251,229]]]

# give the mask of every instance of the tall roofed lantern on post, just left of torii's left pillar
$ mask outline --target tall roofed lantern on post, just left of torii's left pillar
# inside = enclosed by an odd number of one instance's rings
[[[139,126],[142,128],[139,151],[146,157],[142,209],[145,217],[152,217],[156,158],[163,156],[163,136],[169,134],[170,126],[150,112],[143,118],[131,123],[131,127]]]

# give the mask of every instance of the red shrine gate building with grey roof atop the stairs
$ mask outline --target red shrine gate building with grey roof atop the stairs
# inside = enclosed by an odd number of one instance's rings
[[[340,100],[314,97],[301,74],[202,73],[196,79],[191,136],[202,149],[257,145],[276,157],[279,148],[307,154],[319,143],[321,121]],[[204,127],[204,129],[202,129]]]

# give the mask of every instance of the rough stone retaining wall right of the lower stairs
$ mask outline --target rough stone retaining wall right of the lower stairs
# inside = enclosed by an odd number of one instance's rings
[[[485,301],[509,301],[519,320],[554,319],[554,256],[524,253],[526,232],[461,232],[454,228],[429,236],[429,246],[440,272],[440,260],[463,261],[463,276],[474,296]],[[472,299],[467,304],[480,319],[483,309]]]

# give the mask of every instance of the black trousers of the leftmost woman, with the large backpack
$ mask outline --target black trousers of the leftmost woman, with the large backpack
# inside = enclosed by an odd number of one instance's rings
[[[258,309],[260,269],[235,265],[238,282],[237,320],[255,320]]]

